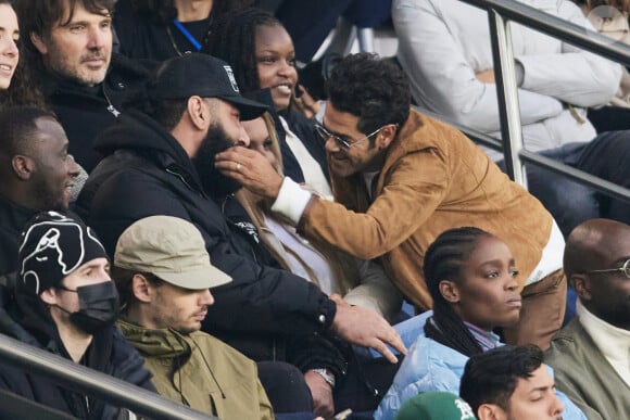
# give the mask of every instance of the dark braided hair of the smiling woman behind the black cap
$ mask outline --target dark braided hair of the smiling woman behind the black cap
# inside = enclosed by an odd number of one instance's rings
[[[262,9],[230,12],[215,21],[204,41],[203,51],[227,62],[242,92],[261,88],[256,63],[256,28],[282,26]]]

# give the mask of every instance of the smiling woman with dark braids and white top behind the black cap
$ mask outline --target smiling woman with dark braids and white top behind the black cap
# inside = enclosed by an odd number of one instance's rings
[[[315,120],[293,107],[306,103],[307,93],[300,94],[295,50],[282,24],[261,9],[234,11],[213,23],[205,41],[204,52],[230,64],[241,93],[272,107],[285,175],[331,198],[326,152]]]

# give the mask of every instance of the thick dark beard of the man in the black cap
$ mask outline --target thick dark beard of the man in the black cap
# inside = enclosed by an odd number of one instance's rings
[[[234,145],[235,141],[227,136],[223,127],[214,124],[209,127],[205,139],[194,157],[193,164],[201,179],[203,191],[215,200],[223,200],[241,188],[238,181],[226,177],[214,167],[214,156]]]

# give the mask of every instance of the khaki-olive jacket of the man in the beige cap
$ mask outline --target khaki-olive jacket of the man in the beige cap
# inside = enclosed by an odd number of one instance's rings
[[[144,357],[161,395],[224,420],[274,418],[256,364],[212,335],[122,320],[118,327]]]

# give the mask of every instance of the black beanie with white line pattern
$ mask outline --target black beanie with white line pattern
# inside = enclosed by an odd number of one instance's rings
[[[22,232],[17,289],[39,295],[85,263],[106,257],[103,245],[83,221],[56,212],[39,213]]]

